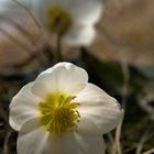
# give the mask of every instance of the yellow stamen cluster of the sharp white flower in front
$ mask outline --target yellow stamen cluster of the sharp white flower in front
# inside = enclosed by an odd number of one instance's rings
[[[80,114],[77,111],[79,103],[73,102],[75,96],[66,94],[50,94],[43,102],[40,102],[41,124],[52,134],[63,134],[75,131]]]

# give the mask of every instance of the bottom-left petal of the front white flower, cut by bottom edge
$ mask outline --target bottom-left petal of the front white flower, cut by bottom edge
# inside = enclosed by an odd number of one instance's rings
[[[51,154],[47,140],[48,133],[40,125],[37,119],[32,119],[20,130],[18,154]]]

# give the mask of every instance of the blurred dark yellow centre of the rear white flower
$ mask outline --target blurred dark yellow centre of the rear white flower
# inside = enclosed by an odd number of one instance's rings
[[[66,10],[54,6],[47,10],[47,26],[53,33],[64,34],[72,26],[72,18]]]

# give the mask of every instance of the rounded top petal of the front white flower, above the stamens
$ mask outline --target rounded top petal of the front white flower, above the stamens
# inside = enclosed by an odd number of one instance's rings
[[[77,94],[85,88],[87,81],[88,75],[85,69],[72,63],[58,63],[43,72],[36,78],[32,89],[40,97],[45,97],[47,92],[56,90]]]

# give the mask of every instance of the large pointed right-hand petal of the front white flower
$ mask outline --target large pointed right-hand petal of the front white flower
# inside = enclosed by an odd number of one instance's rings
[[[84,133],[87,129],[90,130],[89,125],[92,125],[94,134],[107,133],[114,129],[123,118],[123,111],[117,100],[92,84],[88,84],[78,94],[76,101],[80,103],[78,111],[81,116],[78,130]],[[86,120],[88,120],[87,127],[82,124]]]

